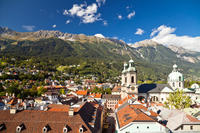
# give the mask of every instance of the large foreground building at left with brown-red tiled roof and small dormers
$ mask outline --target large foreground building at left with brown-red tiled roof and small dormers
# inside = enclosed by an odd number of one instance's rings
[[[101,133],[103,107],[86,102],[80,108],[51,104],[46,111],[0,110],[1,133]]]

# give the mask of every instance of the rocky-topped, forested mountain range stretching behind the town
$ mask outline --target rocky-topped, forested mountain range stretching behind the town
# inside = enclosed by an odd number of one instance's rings
[[[121,67],[124,61],[133,58],[139,76],[143,75],[145,79],[152,76],[166,79],[173,64],[179,66],[186,78],[196,80],[200,77],[200,52],[165,46],[152,40],[130,45],[101,34],[86,36],[48,30],[16,32],[0,27],[0,55],[96,59],[118,62]]]

